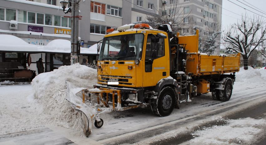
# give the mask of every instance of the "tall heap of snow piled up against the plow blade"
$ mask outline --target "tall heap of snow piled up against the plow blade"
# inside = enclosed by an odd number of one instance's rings
[[[93,88],[97,81],[97,70],[85,65],[61,66],[59,69],[42,73],[32,81],[34,99],[42,104],[43,112],[51,116],[48,123],[81,131],[80,113],[72,109],[66,100],[67,82],[76,88]]]

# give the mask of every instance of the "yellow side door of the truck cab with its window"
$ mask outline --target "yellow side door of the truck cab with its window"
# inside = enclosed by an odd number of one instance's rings
[[[169,62],[165,51],[165,43],[168,44],[168,41],[166,41],[167,38],[160,38],[157,33],[147,33],[143,64],[143,87],[155,86],[159,80],[169,76]],[[167,70],[168,74],[166,73]]]

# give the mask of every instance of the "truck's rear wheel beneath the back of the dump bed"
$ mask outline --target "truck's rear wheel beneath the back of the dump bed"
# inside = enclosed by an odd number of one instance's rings
[[[233,82],[232,80],[227,80],[224,89],[219,90],[218,99],[221,101],[228,101],[231,98],[233,90]]]

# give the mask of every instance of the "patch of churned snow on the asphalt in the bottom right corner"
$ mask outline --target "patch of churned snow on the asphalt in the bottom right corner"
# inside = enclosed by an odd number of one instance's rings
[[[266,125],[264,119],[242,118],[227,120],[227,125],[212,126],[192,133],[197,136],[190,140],[190,145],[228,145],[247,143],[254,140],[256,134],[262,131],[261,126]]]

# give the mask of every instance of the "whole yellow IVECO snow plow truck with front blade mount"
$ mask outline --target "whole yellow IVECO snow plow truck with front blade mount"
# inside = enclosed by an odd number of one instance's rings
[[[198,30],[196,35],[179,36],[168,24],[152,29],[141,23],[107,33],[98,44],[98,82],[81,95],[84,104],[95,96],[94,109],[100,113],[86,114],[86,108],[75,104],[89,120],[84,122],[86,135],[91,119],[96,127],[102,126],[98,115],[104,112],[151,107],[154,114],[167,116],[180,103],[200,94],[212,92],[214,100],[230,99],[240,54],[198,53]]]

